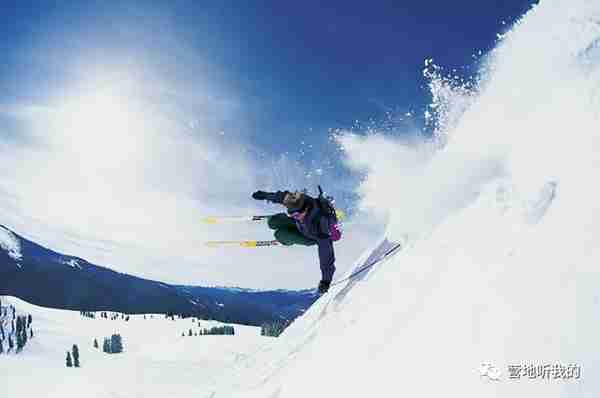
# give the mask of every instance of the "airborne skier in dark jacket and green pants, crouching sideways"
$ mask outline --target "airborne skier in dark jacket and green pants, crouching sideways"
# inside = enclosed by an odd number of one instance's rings
[[[341,238],[341,233],[337,228],[335,210],[322,197],[322,192],[318,198],[312,198],[299,191],[256,191],[252,198],[279,203],[287,208],[287,214],[279,213],[267,219],[278,242],[286,246],[318,246],[322,274],[318,290],[320,294],[327,292],[335,272],[333,242]]]

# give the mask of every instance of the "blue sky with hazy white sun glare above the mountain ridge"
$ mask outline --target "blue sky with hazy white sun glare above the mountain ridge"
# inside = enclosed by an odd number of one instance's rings
[[[109,240],[197,261],[218,234],[196,215],[273,211],[255,189],[320,183],[351,210],[360,176],[330,132],[420,131],[423,61],[472,75],[532,1],[321,3],[3,2],[4,223],[72,253]],[[221,238],[268,238],[242,232]],[[99,253],[73,254],[124,262]]]

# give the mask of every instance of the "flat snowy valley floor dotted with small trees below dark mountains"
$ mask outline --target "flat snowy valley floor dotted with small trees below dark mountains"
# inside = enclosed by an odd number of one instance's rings
[[[17,314],[31,314],[35,333],[25,349],[0,355],[3,397],[202,397],[223,369],[270,338],[260,328],[235,325],[235,336],[192,336],[188,319],[132,315],[129,321],[82,317],[79,312],[36,307],[3,297]],[[202,328],[220,325],[200,321]],[[186,336],[182,337],[181,333]],[[122,354],[104,354],[104,337],[121,334]],[[96,338],[100,350],[93,348]],[[77,344],[81,368],[67,368],[67,350]]]

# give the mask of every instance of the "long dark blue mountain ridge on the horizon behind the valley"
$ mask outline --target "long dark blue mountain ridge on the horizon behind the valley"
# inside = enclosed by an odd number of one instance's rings
[[[176,313],[248,325],[292,320],[312,291],[175,286],[112,271],[31,242],[0,225],[0,295],[80,311]]]

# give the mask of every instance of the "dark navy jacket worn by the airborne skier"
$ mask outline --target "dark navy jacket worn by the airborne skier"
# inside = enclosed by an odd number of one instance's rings
[[[266,192],[266,200],[283,204],[283,198],[288,191]],[[304,195],[308,212],[302,221],[294,220],[298,231],[308,239],[314,240],[319,247],[319,263],[321,265],[322,280],[331,282],[335,272],[335,253],[333,241],[329,236],[330,219],[321,212],[317,201]]]

